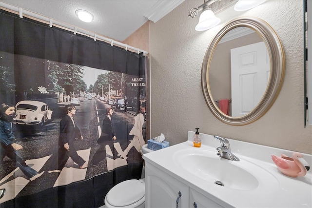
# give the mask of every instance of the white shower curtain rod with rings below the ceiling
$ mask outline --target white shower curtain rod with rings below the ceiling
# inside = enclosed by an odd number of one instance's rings
[[[24,10],[24,9],[22,9],[20,7],[17,7],[17,6],[13,6],[13,5],[10,5],[10,4],[7,4],[7,3],[4,3],[4,2],[0,1],[0,7],[3,7],[3,8],[6,8],[6,9],[9,9],[9,10],[18,12],[20,14],[20,18],[23,18],[23,15],[27,15],[27,16],[30,16],[32,18],[39,19],[41,21],[49,22],[48,24],[49,24],[50,27],[52,27],[53,24],[54,25],[58,25],[58,26],[63,27],[65,29],[69,30],[69,31],[74,31],[75,35],[78,32],[79,34],[82,34],[82,35],[85,35],[85,36],[89,36],[89,37],[93,37],[94,41],[101,40],[101,41],[105,41],[105,42],[110,42],[112,46],[113,45],[118,45],[118,46],[124,47],[125,50],[132,49],[134,51],[137,51],[137,54],[139,54],[140,52],[143,52],[144,56],[148,54],[147,51],[141,50],[139,48],[136,48],[136,47],[124,44],[122,42],[114,41],[113,39],[109,39],[109,38],[100,36],[100,35],[98,35],[96,33],[92,33],[90,31],[83,30],[83,29],[81,29],[79,27],[75,27],[73,25],[66,24],[64,22],[57,21],[57,20],[54,20],[52,18],[48,18],[46,16],[39,15],[37,13],[31,12],[31,11],[28,11],[28,10]]]

